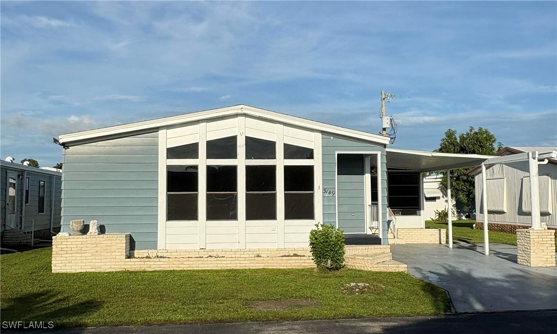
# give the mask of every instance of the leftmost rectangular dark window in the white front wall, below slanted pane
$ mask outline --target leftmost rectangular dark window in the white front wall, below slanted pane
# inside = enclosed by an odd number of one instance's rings
[[[167,220],[197,220],[198,166],[167,166]]]

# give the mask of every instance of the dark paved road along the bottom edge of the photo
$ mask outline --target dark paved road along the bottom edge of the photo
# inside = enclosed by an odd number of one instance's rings
[[[364,333],[555,333],[557,311],[463,314],[443,317],[372,318],[347,320],[312,320],[290,322],[213,323],[208,325],[164,325],[141,327],[99,327],[56,330],[69,334],[364,334]],[[13,332],[12,332],[13,333]],[[27,334],[43,331],[22,331]]]

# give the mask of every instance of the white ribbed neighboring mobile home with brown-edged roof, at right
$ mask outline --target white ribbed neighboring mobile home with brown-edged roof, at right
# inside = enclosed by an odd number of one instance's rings
[[[497,156],[534,152],[557,155],[557,147],[505,147]],[[557,159],[548,159],[539,165],[539,190],[541,222],[550,229],[557,229]],[[468,172],[476,178],[476,208],[478,223],[482,228],[482,175],[480,168]],[[531,226],[530,177],[528,161],[499,163],[488,166],[487,220],[490,231],[515,233],[516,229]]]

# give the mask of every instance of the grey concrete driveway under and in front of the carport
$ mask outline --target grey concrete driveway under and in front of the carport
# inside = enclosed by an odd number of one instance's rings
[[[408,273],[446,289],[457,312],[557,309],[557,267],[516,263],[516,246],[391,245],[393,260]]]

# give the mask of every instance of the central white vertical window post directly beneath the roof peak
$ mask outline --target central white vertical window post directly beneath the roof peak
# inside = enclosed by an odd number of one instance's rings
[[[238,248],[246,248],[246,117],[238,116]]]

